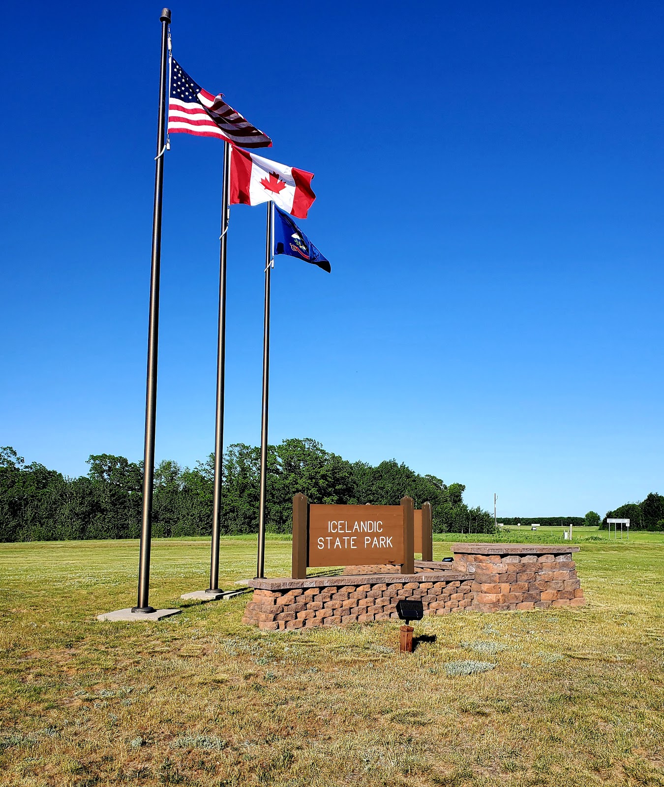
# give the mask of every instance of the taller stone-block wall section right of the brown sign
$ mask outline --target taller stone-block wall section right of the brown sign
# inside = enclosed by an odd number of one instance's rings
[[[572,552],[578,547],[454,544],[454,565],[473,576],[472,608],[481,612],[582,607]]]

